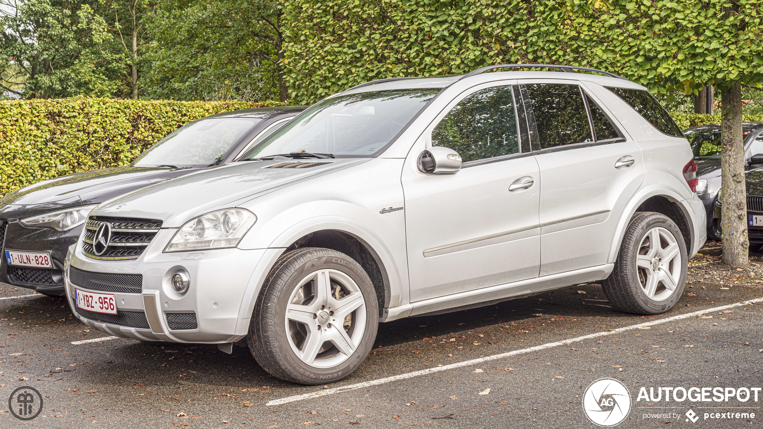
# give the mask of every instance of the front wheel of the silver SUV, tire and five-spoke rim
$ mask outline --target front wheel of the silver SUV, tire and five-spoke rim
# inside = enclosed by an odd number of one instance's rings
[[[340,251],[301,248],[276,261],[257,298],[246,341],[272,376],[316,385],[357,370],[377,329],[376,292],[360,264]]]

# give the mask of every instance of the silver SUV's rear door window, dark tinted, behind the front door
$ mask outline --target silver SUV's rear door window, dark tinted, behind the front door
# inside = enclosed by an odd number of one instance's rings
[[[533,108],[540,149],[593,141],[578,85],[525,86]]]

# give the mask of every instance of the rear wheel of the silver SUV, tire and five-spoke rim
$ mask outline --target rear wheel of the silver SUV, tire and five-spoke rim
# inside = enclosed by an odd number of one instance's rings
[[[659,242],[658,248],[652,241]],[[678,303],[686,275],[681,230],[662,213],[640,212],[631,218],[615,267],[602,286],[614,309],[655,315]]]

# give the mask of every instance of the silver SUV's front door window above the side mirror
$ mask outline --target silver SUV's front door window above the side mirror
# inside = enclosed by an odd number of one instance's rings
[[[510,86],[464,98],[432,131],[432,146],[459,152],[463,162],[520,152]]]

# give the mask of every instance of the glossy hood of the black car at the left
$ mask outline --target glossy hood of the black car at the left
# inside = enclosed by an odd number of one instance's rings
[[[129,166],[84,171],[15,190],[6,195],[2,203],[11,206],[101,203],[130,190],[177,178],[191,171],[182,168]]]

